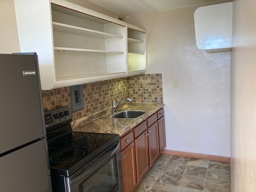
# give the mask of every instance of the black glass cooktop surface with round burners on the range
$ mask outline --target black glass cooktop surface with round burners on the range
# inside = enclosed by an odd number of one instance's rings
[[[118,134],[69,132],[48,142],[51,174],[70,176],[119,141]]]

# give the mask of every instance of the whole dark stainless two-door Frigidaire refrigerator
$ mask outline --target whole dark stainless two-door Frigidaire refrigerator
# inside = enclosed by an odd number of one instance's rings
[[[36,54],[0,54],[0,192],[50,192]]]

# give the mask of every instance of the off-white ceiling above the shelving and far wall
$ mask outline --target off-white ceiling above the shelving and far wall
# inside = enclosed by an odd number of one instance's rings
[[[88,0],[122,16],[220,2],[220,0]]]

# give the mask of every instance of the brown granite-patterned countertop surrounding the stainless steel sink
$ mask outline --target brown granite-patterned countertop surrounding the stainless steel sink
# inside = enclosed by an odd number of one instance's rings
[[[79,132],[112,133],[122,136],[163,106],[163,103],[129,103],[122,108],[118,108],[117,112],[122,110],[144,110],[147,113],[138,119],[114,119],[103,118],[101,116],[86,123],[83,123],[83,120],[80,119],[72,123],[72,130]]]

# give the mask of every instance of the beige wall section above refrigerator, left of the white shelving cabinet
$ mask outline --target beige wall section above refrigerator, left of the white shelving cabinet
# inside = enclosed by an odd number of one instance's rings
[[[0,53],[20,52],[13,0],[0,1]]]

